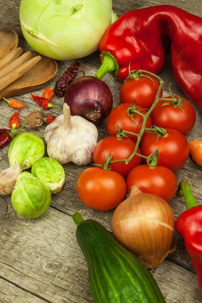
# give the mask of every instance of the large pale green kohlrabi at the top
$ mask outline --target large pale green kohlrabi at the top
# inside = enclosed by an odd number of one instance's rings
[[[21,0],[20,4],[28,44],[56,60],[74,60],[96,51],[112,17],[112,0]]]

